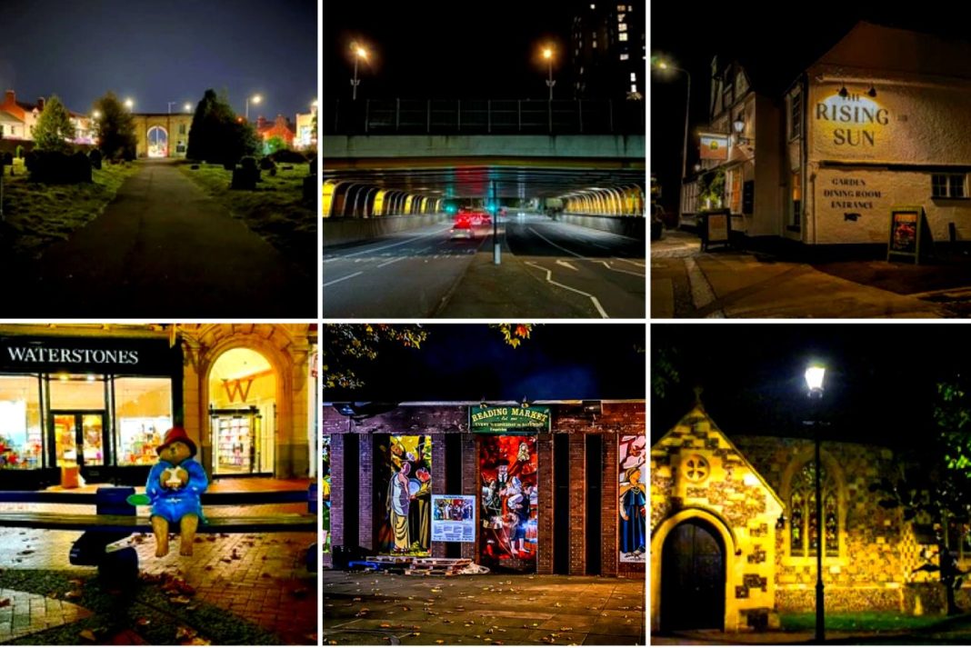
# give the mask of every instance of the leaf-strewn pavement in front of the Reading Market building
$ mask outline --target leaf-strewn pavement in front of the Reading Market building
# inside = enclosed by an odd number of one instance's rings
[[[322,575],[325,645],[647,643],[643,579]]]

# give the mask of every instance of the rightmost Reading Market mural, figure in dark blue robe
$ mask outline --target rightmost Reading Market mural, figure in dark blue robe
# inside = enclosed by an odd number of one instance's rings
[[[624,435],[619,439],[619,526],[621,563],[647,563],[648,488],[645,461],[648,439]]]

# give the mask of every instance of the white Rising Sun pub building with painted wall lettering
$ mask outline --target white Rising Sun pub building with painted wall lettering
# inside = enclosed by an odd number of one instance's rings
[[[971,44],[859,22],[787,78],[763,64],[712,63],[683,225],[720,208],[750,243],[913,253],[919,232],[925,242],[971,240]],[[898,217],[891,238],[901,207],[915,215]]]

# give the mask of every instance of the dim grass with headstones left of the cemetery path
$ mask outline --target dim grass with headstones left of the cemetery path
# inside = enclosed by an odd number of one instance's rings
[[[50,243],[67,239],[94,220],[114,200],[121,183],[138,171],[137,164],[105,164],[91,174],[90,184],[31,182],[22,161],[6,169],[3,178],[5,222],[0,228],[0,252],[38,258]]]

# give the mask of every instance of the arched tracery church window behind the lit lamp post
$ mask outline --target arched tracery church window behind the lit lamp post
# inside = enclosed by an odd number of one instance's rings
[[[822,494],[822,537],[825,556],[840,554],[839,498],[836,480],[825,468],[820,470]],[[815,557],[820,543],[816,517],[816,462],[807,462],[792,479],[789,495],[789,555],[794,558]]]

